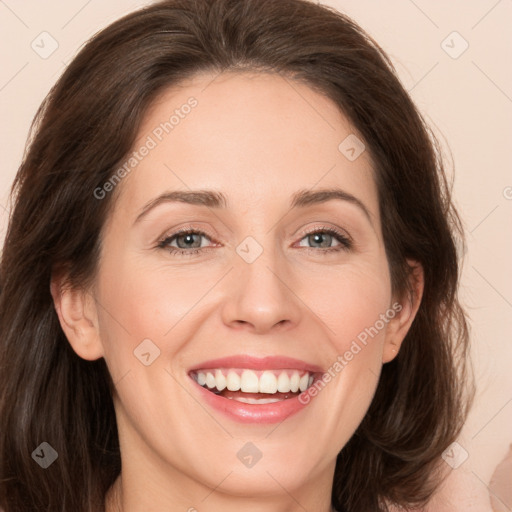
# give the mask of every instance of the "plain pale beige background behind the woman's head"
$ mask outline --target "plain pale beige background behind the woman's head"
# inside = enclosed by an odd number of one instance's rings
[[[0,0],[2,240],[8,190],[38,105],[86,39],[146,3]],[[469,454],[461,468],[474,488],[485,489],[512,442],[512,2],[322,3],[353,17],[388,52],[404,86],[451,149],[454,194],[468,234],[461,294],[472,318],[478,381],[460,439]],[[44,31],[58,43],[46,59],[31,47],[35,41],[51,48],[49,36],[40,35]]]

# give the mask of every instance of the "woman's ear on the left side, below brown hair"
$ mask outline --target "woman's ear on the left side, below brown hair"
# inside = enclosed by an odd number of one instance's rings
[[[89,361],[103,357],[96,302],[90,292],[69,285],[67,276],[52,276],[50,291],[60,325],[73,350]]]

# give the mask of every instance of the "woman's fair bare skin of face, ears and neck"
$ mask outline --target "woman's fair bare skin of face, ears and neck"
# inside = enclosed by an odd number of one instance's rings
[[[278,75],[200,74],[165,91],[135,147],[190,96],[198,105],[118,185],[94,284],[52,280],[71,346],[104,357],[116,383],[123,466],[107,510],[328,512],[336,455],[414,319],[421,267],[415,296],[393,296],[372,161],[368,151],[351,162],[338,150],[357,132],[328,98]],[[340,200],[290,210],[296,191],[333,186],[369,218]],[[164,191],[189,189],[221,191],[228,208],[165,203],[134,223]],[[305,233],[325,226],[353,247],[326,253],[340,242]],[[187,257],[157,247],[181,227],[205,231],[197,244],[210,250]],[[263,249],[253,263],[236,252],[247,236]],[[287,355],[327,370],[395,302],[401,311],[281,424],[237,423],[191,398],[187,370],[207,359]],[[149,366],[133,354],[147,338],[160,350]],[[237,458],[249,441],[263,455],[252,468]]]

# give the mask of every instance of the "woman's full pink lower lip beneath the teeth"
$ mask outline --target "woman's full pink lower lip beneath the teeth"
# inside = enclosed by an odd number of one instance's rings
[[[279,423],[302,411],[313,400],[313,397],[309,396],[307,403],[303,404],[299,401],[301,395],[297,395],[294,398],[286,398],[271,404],[246,404],[216,395],[200,386],[192,377],[190,379],[202,400],[239,423]]]

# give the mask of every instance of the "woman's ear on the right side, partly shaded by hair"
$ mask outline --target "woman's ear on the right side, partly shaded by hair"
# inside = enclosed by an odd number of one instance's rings
[[[423,266],[414,260],[407,260],[410,267],[409,290],[404,296],[395,298],[393,309],[396,315],[389,321],[382,353],[382,362],[389,363],[398,354],[402,342],[412,325],[420,307],[425,278]]]

